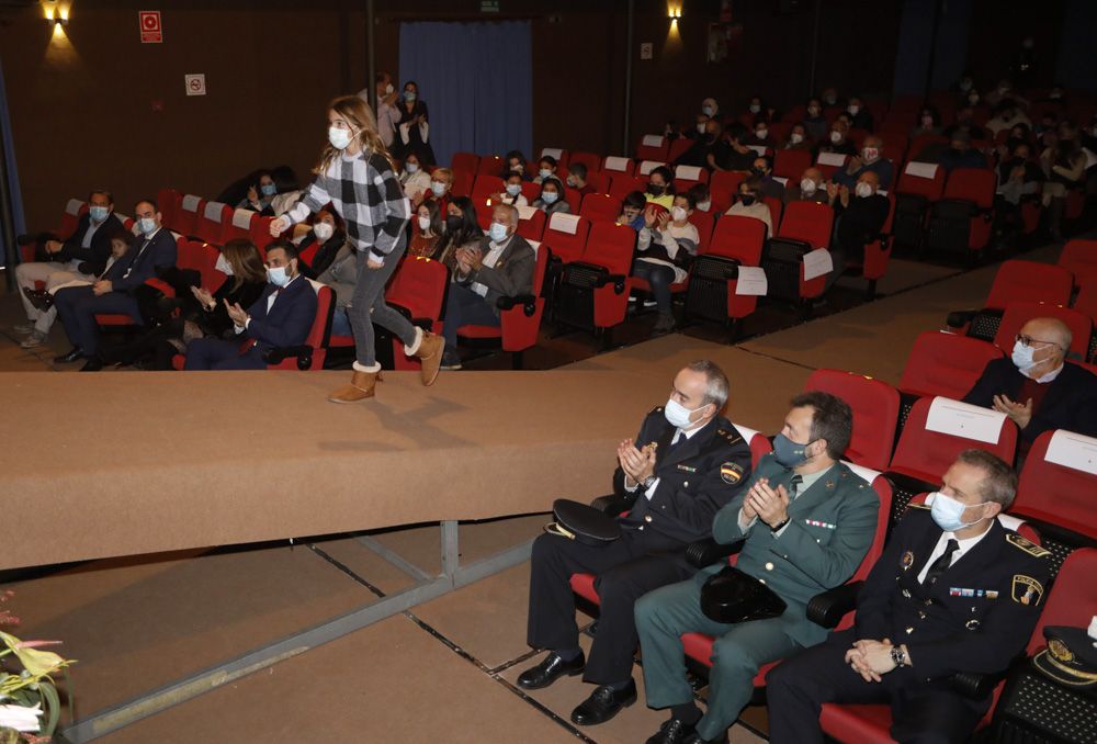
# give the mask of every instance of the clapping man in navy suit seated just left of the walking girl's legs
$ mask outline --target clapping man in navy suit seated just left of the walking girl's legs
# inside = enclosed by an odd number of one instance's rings
[[[275,347],[299,346],[316,319],[316,290],[297,269],[297,249],[289,241],[267,248],[267,289],[244,309],[228,305],[238,340],[200,338],[186,347],[188,370],[264,370],[263,354]]]

